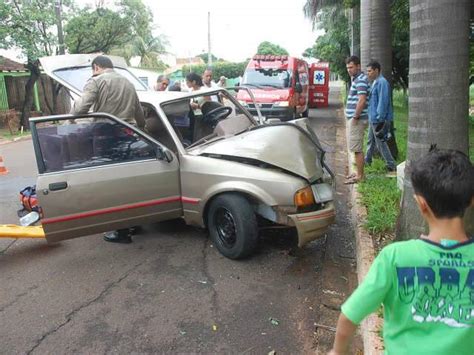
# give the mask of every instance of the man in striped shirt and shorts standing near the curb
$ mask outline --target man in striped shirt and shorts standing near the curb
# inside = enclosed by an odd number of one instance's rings
[[[357,170],[346,177],[345,184],[356,184],[364,178],[363,141],[368,126],[367,94],[369,82],[360,69],[360,59],[351,56],[346,60],[346,68],[352,78],[351,88],[347,96],[346,118],[347,144],[349,151],[354,153]]]

